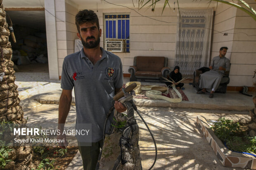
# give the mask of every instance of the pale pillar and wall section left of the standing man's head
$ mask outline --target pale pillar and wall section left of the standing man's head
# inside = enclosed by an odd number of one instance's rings
[[[50,79],[59,79],[65,56],[74,52],[76,5],[69,0],[45,0],[45,23]]]

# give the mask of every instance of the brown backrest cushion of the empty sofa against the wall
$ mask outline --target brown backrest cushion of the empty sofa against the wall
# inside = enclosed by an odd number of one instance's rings
[[[160,72],[164,67],[164,57],[137,56],[136,67],[138,71]]]

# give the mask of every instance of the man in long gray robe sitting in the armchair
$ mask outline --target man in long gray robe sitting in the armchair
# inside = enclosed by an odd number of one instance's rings
[[[216,91],[220,85],[220,81],[224,75],[225,71],[230,70],[230,60],[225,57],[228,47],[220,48],[220,55],[213,58],[210,65],[210,71],[201,74],[199,88],[197,94],[206,93],[206,89],[211,91],[209,98],[213,98],[213,93]]]

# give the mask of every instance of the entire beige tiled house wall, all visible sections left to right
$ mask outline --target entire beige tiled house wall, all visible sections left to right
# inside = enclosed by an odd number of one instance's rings
[[[254,1],[250,2],[250,5],[255,9],[256,3]],[[73,53],[74,40],[77,39],[75,15],[78,12],[78,7],[70,4],[69,0],[55,0],[55,4],[57,74],[60,76],[63,59],[66,55]],[[103,47],[104,41],[103,14],[130,14],[130,53],[116,53],[122,60],[123,73],[128,73],[128,67],[133,65],[134,56],[165,56],[168,57],[168,66],[174,67],[177,10],[173,12],[173,9],[166,8],[162,15],[162,8],[156,8],[154,12],[151,9],[139,10],[139,13],[144,16],[169,23],[149,19],[126,8],[98,9],[98,12],[96,9],[92,10],[97,13],[100,28],[102,28],[101,47]],[[137,8],[135,10],[137,11]],[[253,70],[256,68],[256,36],[247,36],[240,32],[256,35],[256,22],[241,10],[219,3],[216,9],[213,29],[211,58],[218,56],[220,47],[227,46],[229,48],[226,57],[231,60],[232,65],[230,84],[228,85],[252,86]],[[223,33],[228,33],[228,36],[223,36]]]

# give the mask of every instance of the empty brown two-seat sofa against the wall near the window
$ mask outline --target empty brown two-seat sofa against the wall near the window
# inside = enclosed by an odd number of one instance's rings
[[[162,76],[166,77],[170,74],[170,68],[167,65],[167,57],[136,56],[133,58],[133,66],[128,68],[130,82],[135,82],[137,79],[161,81]]]

